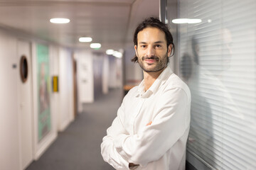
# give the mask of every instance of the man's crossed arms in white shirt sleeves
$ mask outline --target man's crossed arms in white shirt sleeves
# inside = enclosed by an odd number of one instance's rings
[[[164,103],[157,106],[158,113],[151,125],[145,125],[135,135],[129,135],[122,123],[123,104],[117,112],[112,126],[101,145],[102,157],[115,169],[129,169],[129,166],[146,166],[160,159],[183,135],[186,125],[186,93],[182,89],[166,93]]]

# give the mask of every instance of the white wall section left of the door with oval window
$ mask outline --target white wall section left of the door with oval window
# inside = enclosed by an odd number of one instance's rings
[[[15,50],[14,50],[15,49]],[[0,169],[19,169],[16,38],[0,30]]]

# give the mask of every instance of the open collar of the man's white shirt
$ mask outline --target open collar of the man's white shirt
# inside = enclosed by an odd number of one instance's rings
[[[167,66],[166,69],[164,69],[164,71],[161,72],[159,77],[157,77],[157,79],[154,81],[154,84],[152,84],[147,91],[144,91],[144,79],[143,79],[142,82],[139,84],[137,96],[142,96],[143,98],[146,98],[151,96],[151,94],[155,94],[156,91],[159,89],[159,86],[161,86],[161,84],[164,84],[166,79],[168,79],[172,73],[173,72],[171,71],[171,68]]]

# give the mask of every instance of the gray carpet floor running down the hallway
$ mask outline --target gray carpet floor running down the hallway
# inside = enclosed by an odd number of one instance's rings
[[[102,137],[117,115],[122,102],[120,89],[110,90],[94,103],[84,104],[83,112],[26,170],[113,170],[100,154]]]

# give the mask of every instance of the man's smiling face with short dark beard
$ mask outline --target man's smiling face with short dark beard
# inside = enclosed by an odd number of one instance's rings
[[[159,72],[166,67],[171,45],[167,49],[163,31],[159,28],[144,28],[138,33],[137,41],[138,45],[134,49],[144,72]]]

